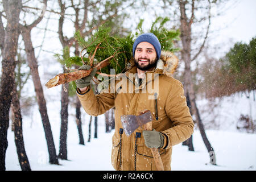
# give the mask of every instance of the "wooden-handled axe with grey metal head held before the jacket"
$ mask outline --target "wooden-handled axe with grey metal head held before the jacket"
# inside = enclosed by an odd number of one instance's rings
[[[152,130],[152,115],[149,110],[141,112],[139,115],[122,115],[121,122],[123,125],[123,130],[125,130],[125,134],[127,137],[130,136],[133,131],[135,131],[138,127],[142,127],[142,130]],[[155,165],[158,171],[163,171],[163,162],[160,157],[157,148],[150,148],[152,155],[155,160]]]

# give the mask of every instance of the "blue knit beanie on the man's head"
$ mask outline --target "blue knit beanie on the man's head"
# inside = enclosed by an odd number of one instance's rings
[[[156,51],[156,57],[158,59],[160,58],[161,44],[160,44],[158,38],[152,33],[145,33],[145,34],[142,34],[142,35],[138,36],[138,38],[133,43],[133,57],[134,57],[136,47],[141,42],[148,42],[148,43],[152,44],[155,48],[155,51]]]

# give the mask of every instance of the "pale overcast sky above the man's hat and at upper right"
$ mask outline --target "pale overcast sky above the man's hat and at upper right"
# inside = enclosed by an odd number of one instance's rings
[[[156,1],[156,3],[157,2],[158,1]],[[223,3],[220,7],[217,7],[217,9],[215,6],[212,7],[208,45],[212,48],[220,47],[216,57],[224,56],[225,53],[229,51],[230,47],[234,46],[234,43],[249,43],[250,40],[256,36],[255,7],[256,0],[230,0]],[[158,6],[156,5],[154,8],[157,9]],[[217,16],[219,13],[220,15]],[[142,18],[144,18],[144,31],[149,30],[152,22],[152,16],[154,16],[154,13],[152,15],[147,11],[143,13]],[[137,25],[137,22],[135,25]],[[200,28],[206,28],[206,25],[202,24]],[[202,35],[202,37],[203,36],[204,35]]]

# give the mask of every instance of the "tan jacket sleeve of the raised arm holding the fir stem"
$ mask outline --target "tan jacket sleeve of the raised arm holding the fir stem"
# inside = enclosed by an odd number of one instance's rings
[[[89,115],[104,114],[114,106],[114,94],[111,93],[94,95],[93,90],[89,88],[84,94],[79,93],[79,90],[77,90],[77,96],[85,112]]]

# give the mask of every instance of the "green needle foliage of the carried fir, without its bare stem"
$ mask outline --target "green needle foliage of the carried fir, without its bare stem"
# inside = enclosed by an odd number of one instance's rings
[[[179,39],[180,32],[165,28],[164,25],[168,21],[168,18],[156,18],[155,22],[152,23],[151,29],[147,32],[152,32],[158,37],[162,45],[162,50],[175,52],[178,48],[174,47],[173,42]],[[80,32],[77,31],[75,33],[75,39],[82,48],[81,55],[67,57],[65,55],[69,55],[69,53],[67,53],[68,50],[65,49],[63,56],[57,55],[57,59],[68,68],[70,68],[72,64],[80,66],[83,62],[84,64],[94,67],[108,57],[114,56],[113,59],[110,59],[109,66],[102,68],[100,72],[110,74],[110,69],[115,69],[116,74],[125,72],[126,65],[133,58],[134,39],[137,38],[139,34],[144,33],[142,24],[143,20],[139,22],[135,35],[130,33],[127,36],[112,35],[112,28],[108,26],[108,23],[100,26],[88,40],[85,40]]]

